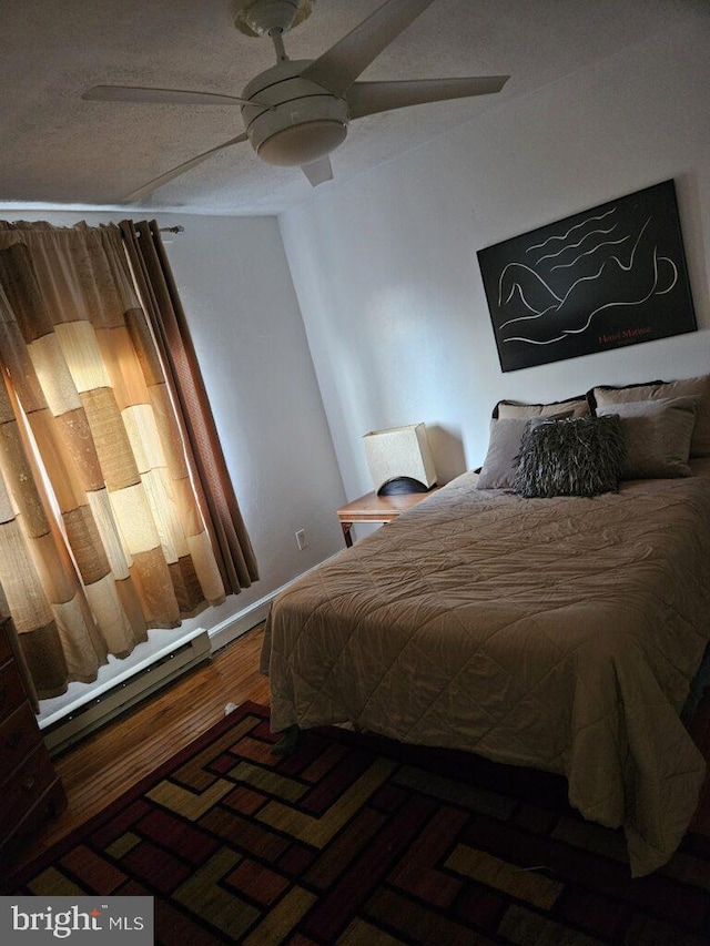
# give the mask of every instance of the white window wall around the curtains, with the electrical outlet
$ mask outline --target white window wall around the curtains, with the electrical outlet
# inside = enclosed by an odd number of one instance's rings
[[[122,218],[21,208],[3,217]],[[343,547],[334,510],[345,495],[275,217],[156,218],[184,226],[164,234],[166,252],[261,576],[189,622],[214,630]]]

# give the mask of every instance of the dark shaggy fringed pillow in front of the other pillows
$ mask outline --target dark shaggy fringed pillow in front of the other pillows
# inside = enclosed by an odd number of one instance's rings
[[[530,420],[520,441],[513,489],[544,499],[612,492],[619,489],[625,455],[616,414]]]

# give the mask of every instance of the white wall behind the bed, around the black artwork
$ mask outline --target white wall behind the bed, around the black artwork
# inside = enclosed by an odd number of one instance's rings
[[[282,215],[348,498],[372,488],[367,430],[425,421],[447,480],[483,461],[500,398],[710,372],[709,24],[669,22]],[[670,177],[700,330],[503,374],[476,251]]]

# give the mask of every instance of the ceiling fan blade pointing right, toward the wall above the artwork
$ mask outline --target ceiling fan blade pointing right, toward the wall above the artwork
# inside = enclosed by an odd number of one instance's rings
[[[404,82],[355,82],[346,100],[351,119],[362,119],[376,112],[443,102],[446,99],[467,99],[499,92],[509,75],[480,75],[470,79],[415,79]]]

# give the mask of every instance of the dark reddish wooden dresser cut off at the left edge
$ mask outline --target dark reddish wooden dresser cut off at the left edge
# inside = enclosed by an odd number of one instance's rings
[[[16,663],[8,624],[6,620],[0,625],[0,863],[67,805]]]

